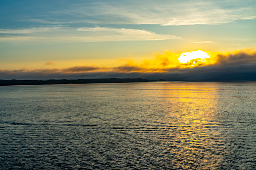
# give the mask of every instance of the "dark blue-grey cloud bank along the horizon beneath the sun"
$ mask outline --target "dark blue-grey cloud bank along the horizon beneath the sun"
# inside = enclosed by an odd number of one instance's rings
[[[218,56],[214,65],[194,68],[171,68],[165,72],[142,72],[139,67],[72,67],[66,69],[0,70],[0,79],[101,79],[143,78],[166,81],[256,81],[256,53],[239,52]]]

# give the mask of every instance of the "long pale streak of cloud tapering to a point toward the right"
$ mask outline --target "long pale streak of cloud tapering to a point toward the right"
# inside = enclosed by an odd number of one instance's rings
[[[157,34],[138,29],[109,28],[109,27],[67,27],[53,26],[28,28],[20,30],[0,30],[4,34],[0,41],[35,41],[50,43],[70,42],[102,42],[102,41],[154,41],[181,39],[179,36]],[[17,34],[17,35],[13,35]]]

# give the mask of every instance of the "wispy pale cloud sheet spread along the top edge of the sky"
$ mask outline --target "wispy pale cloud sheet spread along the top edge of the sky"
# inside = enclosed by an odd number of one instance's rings
[[[244,1],[93,1],[38,12],[39,23],[195,25],[255,19],[255,3]],[[54,9],[54,10],[50,10]],[[43,15],[42,15],[43,13]],[[40,16],[40,17],[39,17]],[[42,17],[43,16],[43,17]],[[67,17],[68,16],[68,17]]]

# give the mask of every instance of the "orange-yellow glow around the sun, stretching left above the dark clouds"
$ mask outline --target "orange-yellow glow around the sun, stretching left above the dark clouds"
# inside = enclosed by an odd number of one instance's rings
[[[24,64],[25,68],[18,69],[21,72],[62,72],[62,73],[86,73],[86,72],[120,72],[120,73],[162,73],[162,72],[175,72],[180,69],[204,67],[219,64],[223,61],[233,62],[234,55],[254,55],[256,49],[244,49],[235,52],[211,52],[196,50],[191,52],[172,53],[165,51],[162,53],[154,53],[154,56],[142,61],[134,59],[119,59],[118,62],[113,60],[74,60],[74,61],[44,61],[40,63],[34,63],[34,66],[38,68],[28,68]],[[246,59],[246,58],[245,58]],[[241,60],[241,62],[245,61]],[[238,57],[235,60],[240,60]],[[248,60],[254,61],[253,58]],[[256,59],[255,59],[256,60]],[[247,61],[247,59],[246,59]],[[93,63],[96,62],[97,65]],[[31,64],[31,63],[27,63]],[[10,72],[17,70],[9,70]]]

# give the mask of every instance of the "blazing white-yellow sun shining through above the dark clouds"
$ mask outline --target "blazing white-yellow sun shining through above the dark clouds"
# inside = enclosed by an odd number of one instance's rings
[[[207,52],[202,50],[197,50],[197,51],[181,53],[178,60],[180,63],[187,63],[187,62],[190,62],[191,60],[194,60],[193,63],[195,64],[196,63],[195,59],[197,61],[205,62],[206,58],[210,58],[210,55]]]

